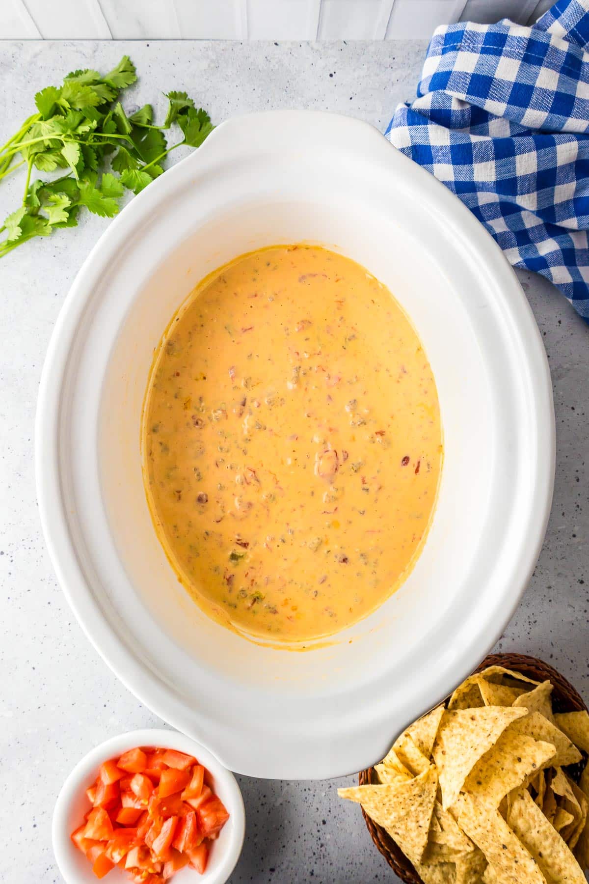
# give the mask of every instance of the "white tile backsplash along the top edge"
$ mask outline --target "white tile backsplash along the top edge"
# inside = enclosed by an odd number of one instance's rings
[[[401,40],[472,19],[533,21],[553,0],[2,0],[0,39]]]

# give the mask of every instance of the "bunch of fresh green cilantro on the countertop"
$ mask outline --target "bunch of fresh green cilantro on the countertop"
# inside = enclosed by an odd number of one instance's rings
[[[62,86],[48,86],[34,96],[37,113],[0,148],[0,181],[26,167],[22,204],[0,227],[5,233],[0,257],[36,236],[75,227],[80,209],[113,217],[125,188],[139,194],[162,174],[172,150],[198,148],[213,131],[206,110],[197,110],[185,92],[167,93],[162,126],[155,125],[150,104],[127,116],[120,96],[135,80],[135,66],[123,56],[104,76],[73,71]],[[164,131],[171,126],[182,137],[168,147]],[[68,171],[31,181],[34,169]]]

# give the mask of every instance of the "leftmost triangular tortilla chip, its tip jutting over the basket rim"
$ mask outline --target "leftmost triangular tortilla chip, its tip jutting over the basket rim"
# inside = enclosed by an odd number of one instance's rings
[[[438,775],[434,766],[430,766],[413,780],[387,786],[337,789],[337,794],[361,804],[415,865],[426,850],[437,788]]]

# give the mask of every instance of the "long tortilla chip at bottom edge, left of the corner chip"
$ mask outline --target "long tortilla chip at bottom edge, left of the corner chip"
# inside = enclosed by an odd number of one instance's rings
[[[499,811],[481,804],[472,795],[459,796],[453,810],[457,813],[458,826],[480,847],[487,863],[493,866],[495,878],[491,880],[497,884],[513,884],[514,881],[546,884],[538,865]]]

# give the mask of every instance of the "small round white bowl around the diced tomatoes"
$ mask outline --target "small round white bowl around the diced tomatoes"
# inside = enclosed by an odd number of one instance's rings
[[[193,755],[205,766],[213,778],[213,788],[230,813],[230,818],[215,840],[208,857],[207,871],[200,875],[186,866],[171,879],[173,884],[223,884],[238,862],[245,836],[244,799],[233,774],[223,767],[214,755],[196,743],[191,737],[178,734],[174,730],[132,730],[127,734],[113,736],[105,743],[96,746],[78,762],[64,782],[57,796],[53,812],[52,839],[59,871],[66,884],[95,884],[98,880],[92,872],[87,858],[72,842],[71,834],[84,821],[84,814],[90,809],[86,789],[92,785],[103,761],[117,758],[135,746],[162,746]],[[113,869],[108,876],[112,884],[130,881],[128,875]]]

